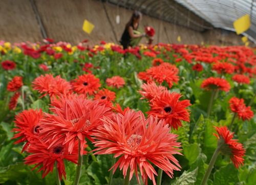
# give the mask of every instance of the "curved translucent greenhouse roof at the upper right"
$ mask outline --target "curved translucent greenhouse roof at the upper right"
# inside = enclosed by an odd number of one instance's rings
[[[256,43],[254,0],[108,0],[107,2],[160,18],[196,31],[221,28],[234,31],[233,21],[250,15],[251,26],[243,33]]]

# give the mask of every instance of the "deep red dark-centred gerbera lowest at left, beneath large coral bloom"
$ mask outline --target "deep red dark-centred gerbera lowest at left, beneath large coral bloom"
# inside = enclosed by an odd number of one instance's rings
[[[38,170],[38,172],[43,171],[42,178],[44,178],[49,172],[53,171],[54,165],[55,163],[57,163],[59,179],[62,178],[62,175],[66,179],[64,159],[77,164],[77,141],[74,143],[74,148],[75,149],[72,151],[72,153],[69,153],[67,145],[56,143],[54,146],[49,147],[49,143],[43,143],[37,140],[32,142],[29,146],[27,151],[32,154],[25,158],[25,164],[35,165],[35,167],[32,170],[40,166],[41,168]],[[86,153],[86,151],[83,152]]]

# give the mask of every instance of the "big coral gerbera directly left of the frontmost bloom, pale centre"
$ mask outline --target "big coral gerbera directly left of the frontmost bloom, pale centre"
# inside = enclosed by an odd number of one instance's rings
[[[78,139],[82,155],[83,146],[86,144],[85,138],[91,139],[92,130],[101,124],[100,119],[103,116],[112,115],[111,108],[76,95],[60,97],[59,103],[54,104],[58,104],[58,107],[51,108],[55,114],[45,114],[45,118],[41,121],[41,133],[47,141],[51,141],[50,146],[60,140],[63,144],[67,143],[70,153]]]

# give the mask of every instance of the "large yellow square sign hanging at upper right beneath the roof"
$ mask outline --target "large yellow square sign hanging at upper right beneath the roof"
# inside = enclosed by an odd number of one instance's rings
[[[234,29],[236,30],[237,34],[241,34],[248,30],[251,26],[250,16],[248,14],[238,18],[233,22]]]

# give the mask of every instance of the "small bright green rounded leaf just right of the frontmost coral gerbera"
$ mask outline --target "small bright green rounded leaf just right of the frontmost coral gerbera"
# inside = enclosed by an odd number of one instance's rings
[[[197,143],[190,144],[190,145],[184,145],[183,152],[184,152],[184,156],[189,161],[189,165],[191,165],[197,160],[197,158],[201,152],[201,148],[199,147],[199,145]]]

